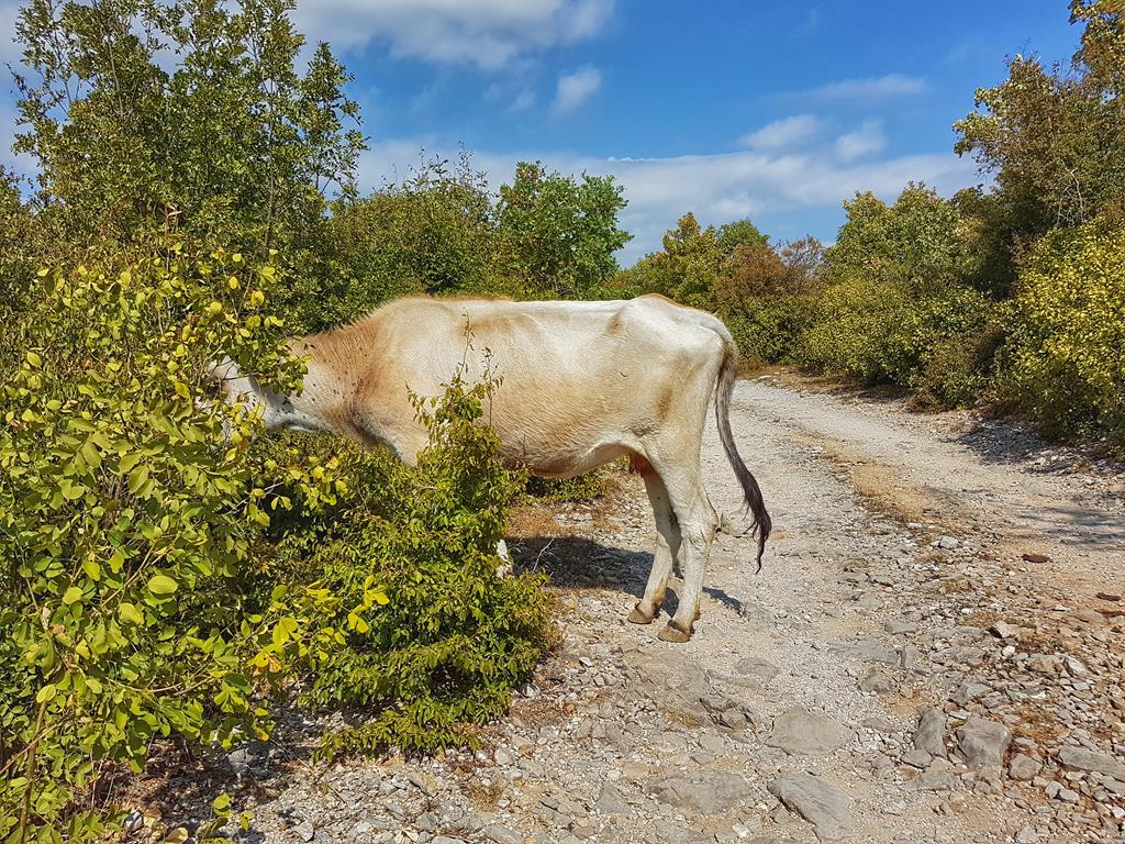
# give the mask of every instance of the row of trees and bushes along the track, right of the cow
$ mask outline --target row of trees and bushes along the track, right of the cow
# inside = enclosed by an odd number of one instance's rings
[[[988,188],[858,194],[827,249],[688,213],[614,291],[717,312],[750,363],[990,404],[1125,454],[1125,24],[1097,0],[1071,18],[1069,66],[1009,60],[955,126]]]

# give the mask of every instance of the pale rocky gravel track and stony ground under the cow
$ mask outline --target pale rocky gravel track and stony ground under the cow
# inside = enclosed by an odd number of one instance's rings
[[[739,384],[732,423],[775,536],[760,574],[753,540],[720,539],[690,644],[624,622],[654,540],[630,478],[610,512],[570,505],[554,538],[513,542],[555,578],[564,646],[486,748],[323,767],[240,751],[237,836],[1125,839],[1117,467],[792,381]],[[703,459],[738,511],[713,432]]]

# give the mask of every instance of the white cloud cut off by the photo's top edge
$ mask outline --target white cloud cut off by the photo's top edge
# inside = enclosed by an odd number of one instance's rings
[[[398,57],[496,69],[601,33],[614,0],[303,0],[298,29],[338,50],[369,43]]]

